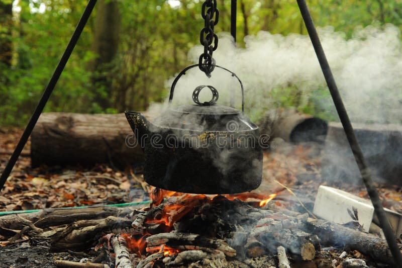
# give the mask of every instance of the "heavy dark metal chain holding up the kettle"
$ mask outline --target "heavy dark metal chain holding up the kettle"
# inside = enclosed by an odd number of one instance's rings
[[[204,53],[199,56],[198,67],[208,77],[211,77],[211,72],[215,68],[215,59],[212,54],[218,48],[218,36],[214,33],[214,27],[219,21],[217,0],[206,0],[203,3],[201,15],[205,20],[205,24],[199,35],[199,42],[204,46]],[[213,43],[214,45],[212,45]]]

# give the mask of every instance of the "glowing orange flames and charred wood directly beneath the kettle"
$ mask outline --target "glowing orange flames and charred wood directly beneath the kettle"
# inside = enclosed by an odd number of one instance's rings
[[[156,263],[182,265],[202,260],[204,265],[211,261],[223,265],[223,259],[236,257],[238,251],[227,239],[233,239],[241,225],[267,215],[257,208],[264,207],[275,196],[265,198],[256,193],[207,196],[153,188],[150,207],[133,212],[132,232],[108,234],[101,240],[112,239],[115,252],[134,253],[132,263],[137,267]],[[261,201],[248,201],[250,199]],[[117,264],[129,263],[129,256],[120,256]],[[141,260],[141,257],[145,258]]]

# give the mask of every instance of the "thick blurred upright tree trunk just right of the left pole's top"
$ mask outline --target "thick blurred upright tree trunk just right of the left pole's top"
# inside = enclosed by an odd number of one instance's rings
[[[112,80],[108,73],[119,45],[119,3],[117,0],[100,0],[96,12],[92,50],[97,56],[91,62],[90,69],[94,72],[94,101],[100,108],[107,109],[111,107],[112,97]]]

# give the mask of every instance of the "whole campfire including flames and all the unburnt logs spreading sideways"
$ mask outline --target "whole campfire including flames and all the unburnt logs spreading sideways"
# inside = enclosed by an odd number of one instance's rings
[[[392,263],[379,236],[360,231],[356,224],[329,223],[307,211],[288,210],[280,196],[152,188],[151,203],[143,208],[10,215],[3,217],[1,229],[4,234],[22,228],[13,241],[29,237],[53,251],[92,247],[92,262],[56,260],[60,267],[290,267],[288,259],[299,267],[367,267],[361,259],[345,260],[344,249]]]

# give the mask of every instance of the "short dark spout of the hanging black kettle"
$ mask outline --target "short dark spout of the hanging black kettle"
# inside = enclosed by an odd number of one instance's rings
[[[124,112],[129,121],[131,129],[134,132],[134,136],[137,139],[138,144],[142,149],[145,147],[145,142],[150,136],[150,128],[153,124],[150,123],[143,114],[137,112]]]

